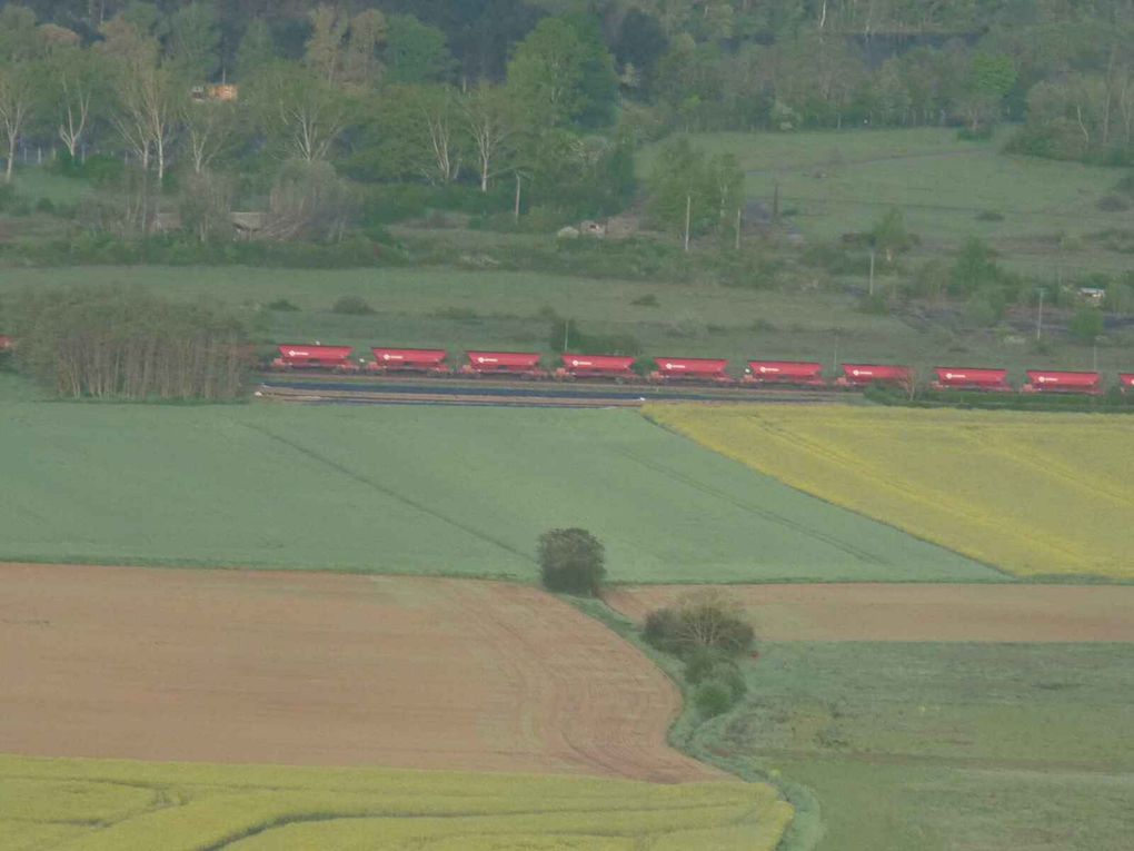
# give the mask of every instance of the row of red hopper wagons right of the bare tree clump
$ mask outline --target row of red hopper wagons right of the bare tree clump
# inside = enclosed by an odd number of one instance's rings
[[[454,368],[443,348],[372,348],[372,361],[354,356],[349,346],[280,346],[271,362],[277,371],[312,370],[372,376],[465,376],[560,381],[603,380],[619,382],[648,381],[655,385],[699,384],[718,387],[778,387],[811,389],[864,389],[870,385],[909,387],[916,380],[913,369],[894,364],[844,363],[840,374],[829,381],[823,365],[812,361],[748,361],[744,376],[734,378],[728,361],[719,357],[654,357],[645,364],[644,376],[635,370],[637,359],[625,355],[561,355],[553,370],[543,365],[539,352],[472,351]],[[934,366],[933,390],[973,390],[980,393],[1016,393],[1008,384],[1008,370],[970,366]],[[1134,372],[1119,374],[1123,393],[1134,394]],[[1027,370],[1027,382],[1019,393],[1082,394],[1103,393],[1100,372],[1067,370]]]

